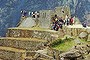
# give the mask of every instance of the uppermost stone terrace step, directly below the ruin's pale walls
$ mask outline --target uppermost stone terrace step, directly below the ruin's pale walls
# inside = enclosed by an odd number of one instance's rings
[[[44,40],[55,40],[58,38],[57,31],[44,28],[9,28],[7,37],[39,38]]]

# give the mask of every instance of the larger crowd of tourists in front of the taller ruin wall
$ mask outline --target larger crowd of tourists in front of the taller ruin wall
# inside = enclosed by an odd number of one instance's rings
[[[52,17],[52,24],[51,29],[58,31],[59,29],[62,29],[63,26],[73,25],[74,24],[74,17],[69,18],[68,15],[66,15],[65,19],[62,17],[58,17],[55,15]]]

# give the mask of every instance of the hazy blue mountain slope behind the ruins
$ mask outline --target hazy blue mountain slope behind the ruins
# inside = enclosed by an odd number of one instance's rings
[[[71,13],[81,21],[90,13],[90,0],[0,0],[0,36],[5,36],[7,28],[16,26],[21,10],[54,9],[62,5],[70,6]]]

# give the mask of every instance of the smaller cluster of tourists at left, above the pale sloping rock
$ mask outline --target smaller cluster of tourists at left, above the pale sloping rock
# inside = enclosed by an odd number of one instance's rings
[[[38,11],[34,11],[34,12],[27,12],[25,10],[21,11],[21,15],[22,17],[27,17],[27,16],[31,16],[32,18],[39,18],[39,12]]]

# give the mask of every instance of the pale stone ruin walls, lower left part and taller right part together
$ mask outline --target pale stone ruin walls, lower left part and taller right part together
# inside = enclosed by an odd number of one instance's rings
[[[64,11],[64,13],[62,12]],[[53,10],[41,10],[40,11],[40,17],[39,17],[39,27],[41,28],[51,28],[51,18],[54,17],[55,15],[65,18],[66,15],[70,15],[70,7],[66,6],[59,6],[56,7]]]

